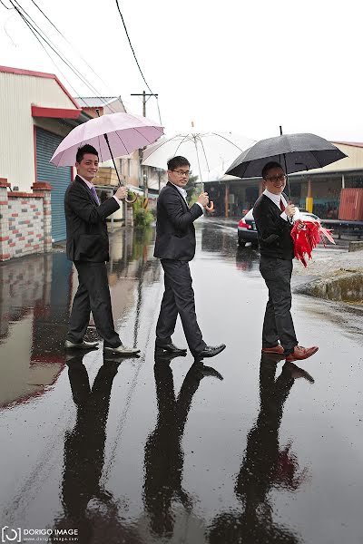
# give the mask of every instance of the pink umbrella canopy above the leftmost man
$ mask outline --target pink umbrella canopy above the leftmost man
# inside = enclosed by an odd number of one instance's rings
[[[111,151],[104,134],[107,134]],[[55,166],[74,166],[79,147],[85,143],[93,145],[101,162],[123,157],[141,149],[160,138],[163,127],[141,115],[110,113],[96,117],[75,127],[54,151],[51,162]]]

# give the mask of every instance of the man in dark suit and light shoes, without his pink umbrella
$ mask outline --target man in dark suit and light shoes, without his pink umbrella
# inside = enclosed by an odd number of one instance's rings
[[[97,332],[103,337],[103,351],[120,355],[139,353],[125,347],[114,330],[110,289],[105,261],[109,260],[106,218],[120,208],[127,189],[120,187],[111,199],[100,204],[93,186],[98,171],[98,153],[91,145],[77,151],[77,176],[64,195],[67,226],[67,257],[74,261],[79,286],[69,321],[65,347],[89,349],[97,342],[83,340],[92,311]]]

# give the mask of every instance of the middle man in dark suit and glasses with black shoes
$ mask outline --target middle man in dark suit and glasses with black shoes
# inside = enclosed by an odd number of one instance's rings
[[[206,345],[195,314],[194,292],[191,287],[189,261],[195,253],[193,221],[201,217],[208,204],[208,195],[202,192],[189,208],[186,190],[190,163],[184,157],[168,161],[168,183],[162,189],[157,204],[156,241],[154,257],[159,257],[164,270],[165,291],[156,325],[155,348],[169,353],[185,353],[172,344],[178,314],[191,350],[196,358],[213,357],[226,347],[224,344]]]

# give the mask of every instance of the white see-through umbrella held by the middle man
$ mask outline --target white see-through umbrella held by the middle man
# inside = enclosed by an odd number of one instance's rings
[[[232,132],[198,131],[191,123],[191,131],[181,131],[173,136],[164,136],[142,153],[142,164],[166,170],[166,163],[172,157],[182,155],[191,163],[191,170],[198,172],[201,187],[211,171],[224,171],[225,164],[240,156],[254,140]],[[207,207],[214,208],[213,202]]]

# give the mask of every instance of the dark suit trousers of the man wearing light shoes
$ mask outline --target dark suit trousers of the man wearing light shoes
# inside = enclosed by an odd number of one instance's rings
[[[98,334],[104,345],[121,345],[120,336],[114,330],[113,310],[105,263],[74,261],[79,286],[74,296],[67,339],[75,344],[82,342],[93,314]]]

